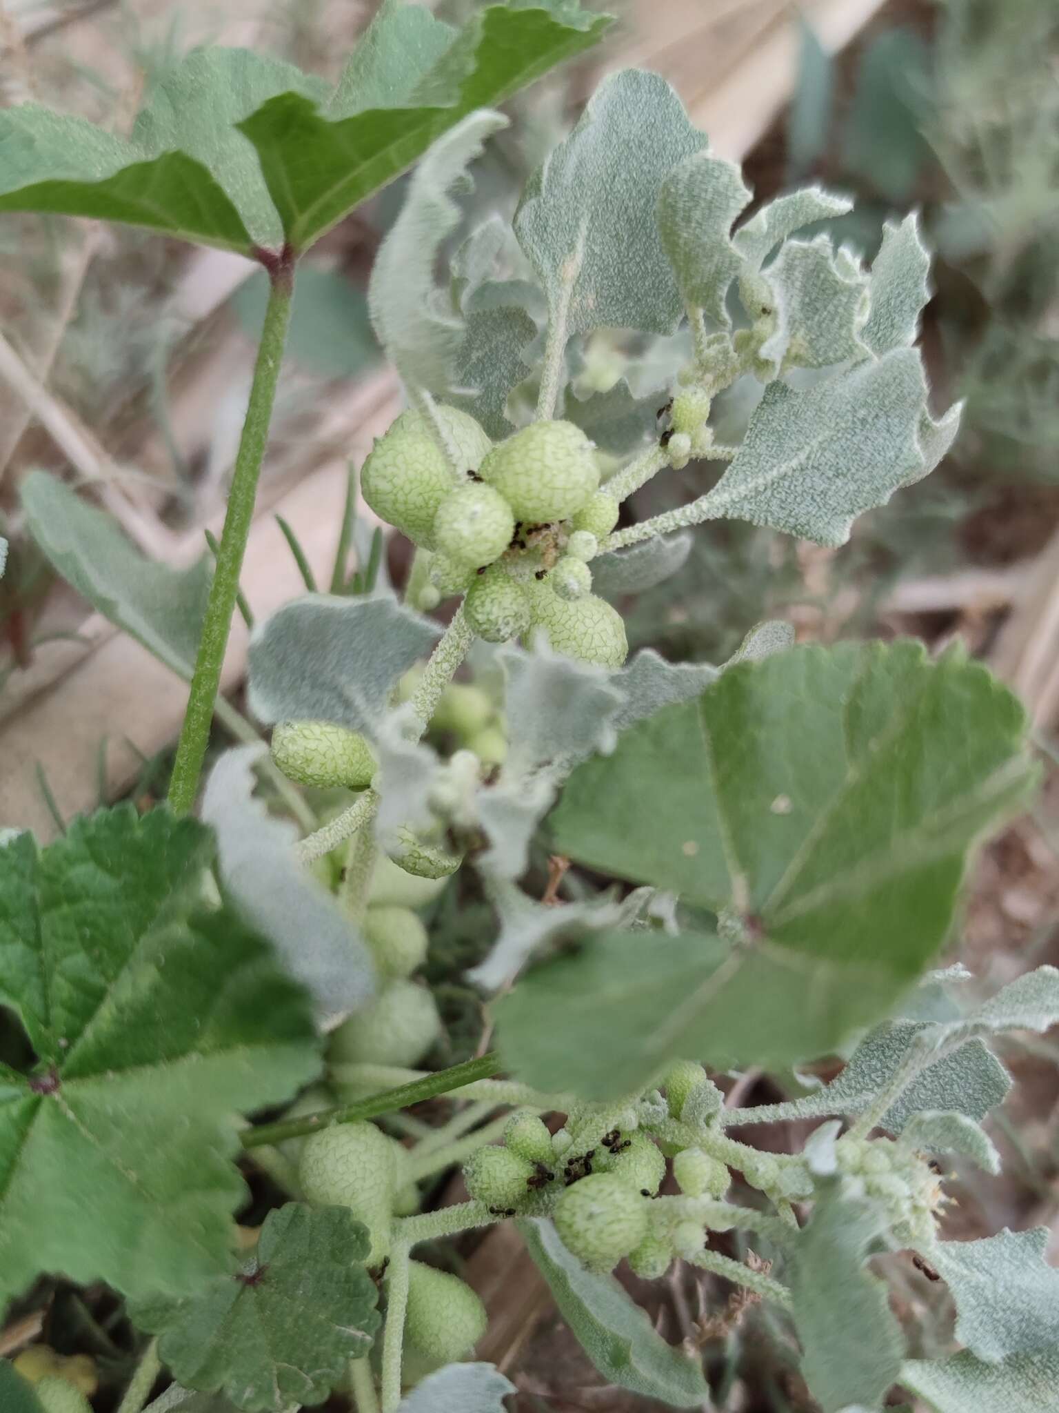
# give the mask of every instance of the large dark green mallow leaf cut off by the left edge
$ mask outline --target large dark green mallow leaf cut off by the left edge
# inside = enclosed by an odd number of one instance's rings
[[[319,1054],[270,944],[208,904],[212,863],[198,821],[127,805],[0,851],[0,1000],[38,1056],[0,1071],[0,1304],[41,1272],[127,1296],[230,1275],[237,1115]]]

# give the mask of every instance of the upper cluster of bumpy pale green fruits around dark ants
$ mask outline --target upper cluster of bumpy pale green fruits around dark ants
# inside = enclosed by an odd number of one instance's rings
[[[541,421],[493,445],[467,413],[436,411],[456,473],[415,411],[397,418],[361,471],[369,506],[429,555],[415,608],[465,595],[467,625],[490,643],[541,632],[556,653],[620,667],[624,625],[592,593],[589,562],[618,517],[593,444],[572,422]]]

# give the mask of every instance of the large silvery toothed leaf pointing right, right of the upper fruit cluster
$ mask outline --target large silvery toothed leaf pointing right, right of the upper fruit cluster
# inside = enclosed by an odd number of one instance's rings
[[[703,512],[846,544],[858,514],[928,475],[947,451],[956,424],[925,425],[925,415],[926,379],[914,349],[801,391],[770,383]]]

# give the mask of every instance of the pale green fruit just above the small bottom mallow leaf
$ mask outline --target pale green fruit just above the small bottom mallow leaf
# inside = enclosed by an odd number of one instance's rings
[[[367,1226],[367,1265],[390,1252],[397,1188],[394,1142],[374,1123],[333,1123],[305,1140],[298,1181],[313,1207],[347,1207]]]

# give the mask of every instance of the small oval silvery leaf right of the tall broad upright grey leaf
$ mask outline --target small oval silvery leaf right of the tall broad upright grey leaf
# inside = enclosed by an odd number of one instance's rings
[[[658,194],[658,229],[681,295],[722,325],[729,285],[746,263],[731,226],[748,202],[738,167],[707,151],[681,162]]]

